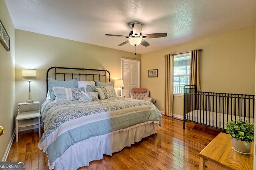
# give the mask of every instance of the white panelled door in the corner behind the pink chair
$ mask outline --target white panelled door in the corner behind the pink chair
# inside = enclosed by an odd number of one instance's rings
[[[140,88],[140,61],[122,59],[121,78],[124,80],[122,95],[130,98],[129,90]]]

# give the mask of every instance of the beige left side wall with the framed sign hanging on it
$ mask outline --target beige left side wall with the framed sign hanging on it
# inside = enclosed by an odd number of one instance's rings
[[[4,0],[0,0],[0,20],[9,37],[10,51],[0,43],[0,126],[5,132],[0,136],[0,161],[14,132],[15,120],[15,29]]]

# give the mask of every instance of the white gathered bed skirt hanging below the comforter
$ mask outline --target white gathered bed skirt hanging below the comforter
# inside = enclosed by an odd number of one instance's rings
[[[70,147],[56,162],[55,170],[76,170],[82,166],[89,166],[92,160],[100,160],[103,154],[112,155],[124,147],[141,141],[142,138],[156,133],[154,123],[142,123],[130,127],[126,131],[112,132],[106,135],[91,137]],[[50,164],[48,164],[50,166]],[[50,167],[52,169],[53,167]]]

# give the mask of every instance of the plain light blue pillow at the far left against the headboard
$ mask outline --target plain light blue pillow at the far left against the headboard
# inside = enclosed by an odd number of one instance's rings
[[[58,81],[53,78],[48,78],[48,89],[50,92],[50,100],[55,100],[54,93],[52,91],[53,87],[66,87],[66,88],[76,88],[77,78],[68,81]]]

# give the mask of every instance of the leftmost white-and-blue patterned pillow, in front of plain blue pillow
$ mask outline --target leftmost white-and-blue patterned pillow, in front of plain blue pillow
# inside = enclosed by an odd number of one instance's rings
[[[53,87],[54,95],[56,96],[55,101],[71,101],[79,100],[81,92],[85,92],[84,87],[80,88],[64,88],[64,87]]]

